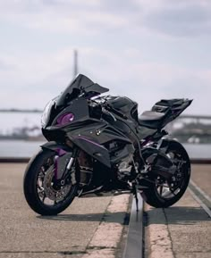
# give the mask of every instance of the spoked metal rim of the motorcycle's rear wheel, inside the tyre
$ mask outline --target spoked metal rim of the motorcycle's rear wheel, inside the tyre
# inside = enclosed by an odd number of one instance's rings
[[[156,177],[156,194],[162,199],[170,200],[178,196],[183,190],[187,171],[187,162],[182,159],[181,154],[175,151],[169,151],[166,155],[171,158],[176,172],[169,180],[160,176]]]

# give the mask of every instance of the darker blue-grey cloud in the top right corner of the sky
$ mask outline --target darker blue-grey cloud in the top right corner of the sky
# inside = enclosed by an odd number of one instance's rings
[[[146,28],[170,37],[209,36],[211,33],[210,1],[156,1],[147,4],[140,21]],[[153,2],[154,3],[154,2]]]

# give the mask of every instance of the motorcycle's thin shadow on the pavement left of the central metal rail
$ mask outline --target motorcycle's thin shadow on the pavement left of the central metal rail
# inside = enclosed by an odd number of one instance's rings
[[[55,216],[37,216],[40,220],[49,221],[106,221],[110,223],[121,223],[128,225],[130,213],[107,212],[107,213],[87,213],[87,214],[58,214]],[[123,222],[122,222],[123,221]]]

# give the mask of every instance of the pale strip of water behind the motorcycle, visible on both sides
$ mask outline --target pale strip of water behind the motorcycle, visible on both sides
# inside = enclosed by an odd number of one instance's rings
[[[1,140],[0,157],[31,157],[44,142],[24,140]],[[211,159],[211,145],[183,144],[190,158]]]

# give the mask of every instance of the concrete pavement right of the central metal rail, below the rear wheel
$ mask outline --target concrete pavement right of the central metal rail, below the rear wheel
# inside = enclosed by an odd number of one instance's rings
[[[191,179],[210,194],[211,166],[193,165]],[[189,190],[170,208],[145,211],[146,257],[211,257],[211,219]]]

